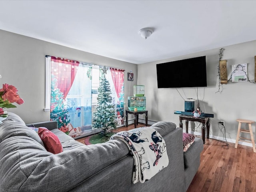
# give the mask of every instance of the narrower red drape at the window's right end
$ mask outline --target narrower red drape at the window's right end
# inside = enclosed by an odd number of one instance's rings
[[[114,82],[114,86],[116,89],[116,94],[118,98],[120,97],[120,92],[122,89],[122,85],[124,83],[124,70],[122,69],[116,69],[116,68],[110,68],[112,80]]]

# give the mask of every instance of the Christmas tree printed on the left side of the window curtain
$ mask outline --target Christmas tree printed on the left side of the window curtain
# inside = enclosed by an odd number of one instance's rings
[[[66,125],[70,122],[68,110],[64,106],[64,95],[57,87],[57,79],[52,75],[51,83],[51,120],[58,121],[58,128],[68,134]]]

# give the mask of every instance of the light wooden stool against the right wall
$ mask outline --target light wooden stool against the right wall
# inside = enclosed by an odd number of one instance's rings
[[[236,121],[238,122],[238,130],[237,130],[235,148],[237,148],[238,141],[248,142],[248,143],[252,143],[253,152],[256,153],[255,142],[254,142],[254,138],[253,138],[253,134],[252,134],[252,123],[253,123],[254,121],[246,120],[246,119],[237,119]],[[249,130],[241,129],[241,124],[242,124],[242,123],[248,123],[248,125],[249,125]],[[240,132],[243,132],[243,133],[250,133],[251,138],[249,139],[249,138],[240,137]],[[241,138],[241,139],[250,140],[250,141],[239,140],[240,138]]]

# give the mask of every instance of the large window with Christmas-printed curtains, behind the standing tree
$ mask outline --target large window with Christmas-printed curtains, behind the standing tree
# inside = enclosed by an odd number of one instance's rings
[[[46,56],[46,108],[58,128],[72,137],[91,130],[97,104],[101,66]],[[118,126],[124,124],[124,70],[108,68],[106,74],[116,106]]]

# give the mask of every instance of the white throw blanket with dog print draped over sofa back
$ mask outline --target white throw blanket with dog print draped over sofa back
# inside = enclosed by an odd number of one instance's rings
[[[169,164],[165,141],[153,128],[135,128],[118,132],[110,138],[114,139],[125,142],[133,155],[134,184],[138,181],[144,183]]]

